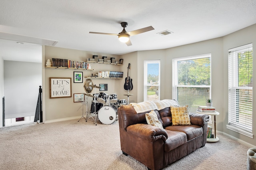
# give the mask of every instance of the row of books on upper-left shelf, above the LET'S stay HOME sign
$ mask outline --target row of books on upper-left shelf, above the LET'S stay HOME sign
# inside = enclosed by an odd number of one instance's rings
[[[91,69],[92,65],[85,61],[71,61],[69,59],[52,58],[52,67]]]

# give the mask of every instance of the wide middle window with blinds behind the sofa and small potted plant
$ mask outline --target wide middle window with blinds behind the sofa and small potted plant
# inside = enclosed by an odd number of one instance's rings
[[[172,98],[196,112],[211,98],[211,54],[172,60]]]

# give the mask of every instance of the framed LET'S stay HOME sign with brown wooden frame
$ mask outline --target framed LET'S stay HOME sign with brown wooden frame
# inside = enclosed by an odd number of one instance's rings
[[[50,98],[72,97],[71,78],[50,77]]]

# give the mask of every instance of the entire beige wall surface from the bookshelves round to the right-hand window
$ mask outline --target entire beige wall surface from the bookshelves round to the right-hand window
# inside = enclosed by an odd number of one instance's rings
[[[132,78],[133,90],[130,93],[134,94],[129,97],[130,103],[143,101],[143,76],[144,76],[144,60],[160,59],[161,61],[161,89],[160,99],[172,99],[172,59],[177,57],[186,57],[191,55],[200,55],[205,53],[212,54],[212,99],[214,101],[214,107],[220,112],[220,115],[216,116],[217,130],[225,132],[248,142],[256,146],[256,140],[243,136],[226,128],[228,123],[228,49],[244,45],[247,43],[256,44],[256,24],[248,28],[239,30],[238,32],[229,34],[221,38],[215,38],[212,40],[206,40],[203,42],[192,43],[188,45],[182,45],[179,47],[173,47],[169,49],[158,49],[148,51],[137,51],[128,53],[125,55],[115,56],[116,58],[123,58],[124,65],[122,66],[108,66],[95,63],[92,65],[94,71],[83,71],[84,76],[95,73],[96,71],[113,70],[123,71],[124,78],[121,80],[100,80],[92,79],[93,83],[98,85],[99,83],[108,83],[109,90],[107,94],[116,93],[118,99],[126,99],[124,94],[127,91],[124,90],[124,80],[127,76],[128,63],[131,64],[129,70],[130,77]],[[255,53],[254,53],[255,54]],[[45,59],[52,57],[68,58],[68,59],[80,59],[85,61],[86,58],[92,57],[92,55],[111,55],[94,53],[89,51],[79,51],[72,49],[62,49],[58,47],[45,47]],[[253,61],[254,68],[256,68],[256,60]],[[43,68],[44,69],[44,68]],[[81,103],[73,103],[72,98],[63,99],[49,99],[49,77],[72,77],[74,70],[62,70],[62,69],[44,69],[45,76],[45,121],[52,121],[55,119],[67,119],[70,117],[78,117],[82,114],[80,109]],[[44,71],[43,71],[44,74]],[[84,79],[85,81],[85,79]],[[254,86],[256,86],[256,80],[254,79]],[[254,88],[255,89],[255,88]],[[97,91],[98,92],[98,91]],[[84,93],[82,83],[72,83],[72,93]],[[254,93],[255,99],[256,93]],[[253,101],[254,110],[256,113],[256,101]],[[89,102],[90,103],[90,102]],[[90,106],[89,106],[90,107]],[[256,124],[256,115],[253,115],[254,122]],[[253,126],[253,133],[256,133],[256,127]]]

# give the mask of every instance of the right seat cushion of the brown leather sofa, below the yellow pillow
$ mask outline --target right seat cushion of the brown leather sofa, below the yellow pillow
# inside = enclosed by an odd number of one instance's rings
[[[203,134],[203,128],[197,125],[169,126],[169,127],[166,127],[165,129],[183,132],[186,134],[187,140],[191,140]]]

